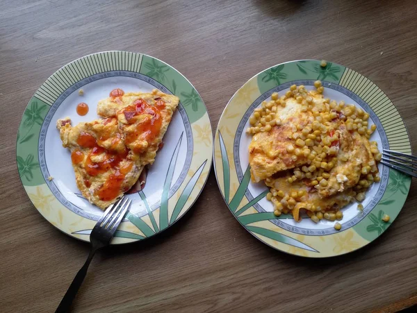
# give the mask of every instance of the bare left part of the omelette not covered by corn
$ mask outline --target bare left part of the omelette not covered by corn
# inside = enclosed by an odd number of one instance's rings
[[[293,158],[293,151],[288,152],[287,147],[292,145],[293,149],[297,148],[291,135],[297,131],[297,126],[304,128],[313,121],[311,112],[302,112],[300,103],[295,99],[288,99],[285,107],[277,107],[275,116],[279,119],[279,124],[273,126],[269,132],[256,133],[249,146],[250,171],[255,182],[278,171],[306,164],[308,160],[304,155]]]

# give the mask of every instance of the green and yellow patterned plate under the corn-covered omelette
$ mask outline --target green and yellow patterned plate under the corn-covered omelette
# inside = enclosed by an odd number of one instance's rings
[[[227,103],[215,132],[214,168],[224,201],[231,213],[254,237],[265,244],[293,255],[331,257],[357,250],[379,237],[389,227],[404,205],[411,178],[379,164],[380,183],[375,183],[363,201],[363,213],[357,203],[343,209],[342,230],[334,222],[310,219],[300,223],[292,218],[275,217],[263,183],[252,183],[248,159],[251,136],[245,133],[249,117],[272,92],[285,94],[293,84],[313,89],[322,81],[325,97],[354,103],[370,115],[377,125],[371,140],[379,149],[411,154],[411,144],[404,121],[391,100],[365,76],[336,63],[320,67],[318,60],[286,62],[252,77]],[[382,221],[384,214],[391,217]]]

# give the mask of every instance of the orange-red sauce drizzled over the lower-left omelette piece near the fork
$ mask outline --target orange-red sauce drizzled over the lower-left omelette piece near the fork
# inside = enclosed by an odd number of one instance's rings
[[[104,134],[104,136],[106,135],[108,135],[108,139],[110,134]],[[101,137],[99,141],[102,139],[105,138]],[[120,135],[113,139],[112,148],[113,146],[116,147],[118,142],[120,142]],[[122,160],[126,159],[128,151],[124,150],[122,153],[117,153],[114,150],[108,151],[98,145],[94,136],[85,132],[80,133],[77,143],[83,148],[92,149],[92,151],[87,155],[87,158],[85,158],[85,161],[84,155],[81,151],[75,150],[71,154],[71,159],[74,164],[83,162],[83,168],[88,175],[97,176],[113,169],[114,173],[108,176],[106,182],[96,192],[97,196],[99,196],[102,201],[112,201],[120,194],[124,177],[127,173],[129,173],[133,166],[132,162],[129,162],[123,167],[120,166]],[[92,158],[99,155],[102,158],[101,162],[92,162]],[[84,180],[84,184],[86,187],[91,186],[90,180],[87,179]]]

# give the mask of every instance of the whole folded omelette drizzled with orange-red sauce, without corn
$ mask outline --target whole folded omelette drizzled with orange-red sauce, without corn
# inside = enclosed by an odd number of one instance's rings
[[[97,108],[106,118],[76,126],[69,118],[56,123],[63,146],[71,151],[77,187],[101,209],[131,189],[145,165],[154,162],[179,103],[157,90],[111,94]]]

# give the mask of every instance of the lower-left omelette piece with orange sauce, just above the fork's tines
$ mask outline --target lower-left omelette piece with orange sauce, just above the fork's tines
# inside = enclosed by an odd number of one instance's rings
[[[76,185],[85,198],[105,209],[138,180],[143,167],[133,162],[117,119],[98,119],[71,125],[58,119],[56,127],[65,148],[71,151]]]

